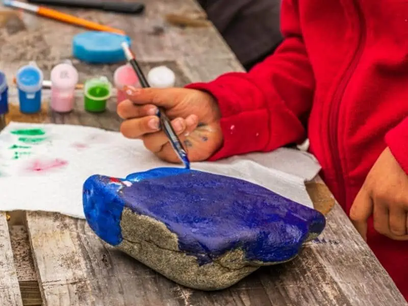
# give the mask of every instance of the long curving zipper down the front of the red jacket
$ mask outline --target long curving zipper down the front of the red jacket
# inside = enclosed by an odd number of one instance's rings
[[[335,169],[336,181],[338,185],[338,193],[340,203],[345,203],[346,195],[345,195],[345,182],[343,176],[343,168],[340,161],[340,152],[339,152],[339,141],[338,141],[338,126],[339,126],[339,112],[341,102],[344,96],[344,92],[350,82],[350,79],[359,65],[359,61],[364,51],[364,45],[366,41],[366,24],[363,16],[363,12],[361,10],[360,4],[358,0],[353,0],[353,4],[358,14],[359,23],[360,23],[360,37],[358,46],[354,52],[353,58],[350,61],[349,66],[347,67],[346,71],[343,74],[343,77],[336,89],[335,94],[333,95],[331,108],[330,108],[330,115],[329,115],[329,122],[328,122],[328,131],[329,131],[329,144],[331,154],[333,156],[332,163]]]

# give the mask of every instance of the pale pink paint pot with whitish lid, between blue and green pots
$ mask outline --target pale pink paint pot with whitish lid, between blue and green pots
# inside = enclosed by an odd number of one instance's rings
[[[68,113],[75,105],[75,86],[78,71],[70,61],[58,64],[51,70],[51,108],[58,113]]]

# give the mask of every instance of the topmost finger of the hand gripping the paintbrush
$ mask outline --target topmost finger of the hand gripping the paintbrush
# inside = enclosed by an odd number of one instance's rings
[[[152,104],[170,109],[180,102],[183,97],[182,88],[135,88],[124,86],[127,98],[134,104]]]

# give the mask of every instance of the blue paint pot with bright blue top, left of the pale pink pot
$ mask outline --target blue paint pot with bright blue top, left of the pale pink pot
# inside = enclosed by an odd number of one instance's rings
[[[35,62],[18,69],[16,83],[21,113],[35,114],[41,110],[42,80],[42,71]]]

